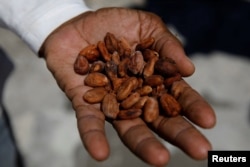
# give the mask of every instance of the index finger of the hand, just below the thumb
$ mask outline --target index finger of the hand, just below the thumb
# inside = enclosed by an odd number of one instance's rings
[[[174,82],[171,92],[182,106],[182,113],[202,128],[212,128],[216,123],[212,107],[184,80]]]

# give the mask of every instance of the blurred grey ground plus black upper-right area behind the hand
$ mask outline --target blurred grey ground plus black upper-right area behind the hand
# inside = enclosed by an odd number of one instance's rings
[[[250,150],[249,1],[86,0],[94,8],[130,7],[158,14],[183,43],[196,66],[186,78],[213,106],[217,124],[200,129],[215,150]],[[0,47],[14,63],[4,90],[27,167],[145,167],[107,123],[111,155],[94,161],[78,136],[74,111],[45,62],[11,32],[0,29]],[[167,142],[169,167],[203,167]]]

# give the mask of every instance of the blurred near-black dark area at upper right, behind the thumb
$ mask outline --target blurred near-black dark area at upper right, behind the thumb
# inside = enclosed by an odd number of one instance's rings
[[[143,8],[180,32],[186,53],[220,50],[250,57],[250,3],[242,0],[148,0]]]

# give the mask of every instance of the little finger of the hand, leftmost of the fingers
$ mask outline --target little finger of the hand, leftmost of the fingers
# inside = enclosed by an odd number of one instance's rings
[[[105,160],[109,156],[105,117],[97,106],[84,103],[81,96],[84,91],[83,87],[79,87],[68,92],[76,111],[78,131],[89,154],[96,160]]]

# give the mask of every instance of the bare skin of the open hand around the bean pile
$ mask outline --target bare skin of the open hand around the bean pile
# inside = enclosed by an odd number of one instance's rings
[[[183,77],[190,76],[195,70],[180,42],[152,13],[121,8],[100,9],[82,14],[50,34],[40,55],[45,58],[48,69],[72,102],[85,148],[94,159],[100,161],[109,155],[105,116],[99,105],[89,105],[83,101],[82,96],[89,88],[83,85],[83,76],[74,72],[73,64],[82,48],[103,40],[107,32],[118,38],[125,37],[133,46],[142,39],[154,37],[156,42],[153,48],[159,54],[174,59]],[[213,127],[213,109],[184,80],[176,84],[181,90],[178,101],[183,108],[183,116],[160,116],[151,124],[145,124],[140,118],[110,121],[123,143],[143,161],[154,166],[163,166],[170,159],[167,148],[155,134],[197,160],[205,159],[207,151],[211,149],[209,141],[190,121],[202,128]]]

